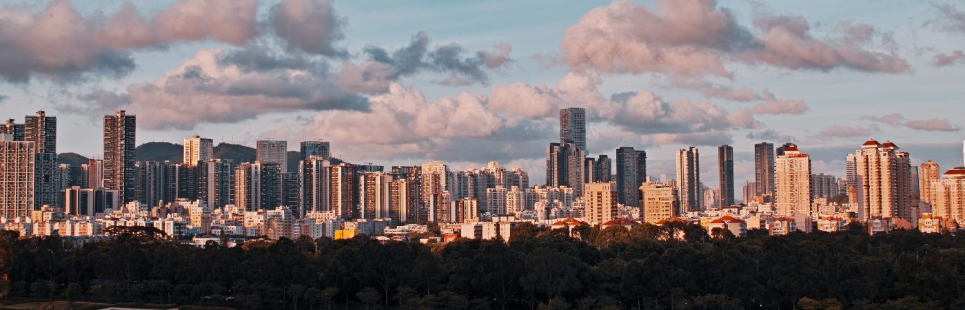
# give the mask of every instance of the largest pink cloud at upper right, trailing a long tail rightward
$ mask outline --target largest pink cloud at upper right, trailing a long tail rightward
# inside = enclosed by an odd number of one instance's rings
[[[754,26],[757,33],[713,0],[663,0],[656,10],[617,1],[566,29],[561,47],[572,68],[681,78],[732,78],[729,61],[790,70],[908,70],[904,59],[866,49],[889,41],[869,25],[840,23],[840,38],[827,40],[815,38],[797,15],[758,14]]]

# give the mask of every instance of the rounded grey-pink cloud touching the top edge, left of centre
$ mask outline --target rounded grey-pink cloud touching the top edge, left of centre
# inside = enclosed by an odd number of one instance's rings
[[[270,23],[289,51],[345,57],[334,45],[345,38],[340,20],[329,0],[282,0],[271,8]]]

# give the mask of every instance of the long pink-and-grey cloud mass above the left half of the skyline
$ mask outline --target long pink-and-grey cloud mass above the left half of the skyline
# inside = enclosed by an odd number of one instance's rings
[[[199,51],[194,58],[152,83],[136,83],[125,94],[96,92],[79,99],[95,108],[122,105],[131,113],[150,115],[138,127],[186,129],[200,124],[236,123],[272,112],[368,110],[368,100],[345,92],[320,69],[248,70],[219,49]],[[257,56],[271,57],[268,55]],[[263,59],[262,59],[263,60]],[[263,60],[257,64],[290,64],[290,60]],[[270,66],[268,66],[270,67]]]

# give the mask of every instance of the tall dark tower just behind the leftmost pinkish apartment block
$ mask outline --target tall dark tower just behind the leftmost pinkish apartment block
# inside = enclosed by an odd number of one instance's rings
[[[34,169],[34,208],[59,206],[62,200],[60,174],[57,170],[57,118],[47,117],[43,111],[26,116],[23,122],[23,141],[34,143],[37,157]]]

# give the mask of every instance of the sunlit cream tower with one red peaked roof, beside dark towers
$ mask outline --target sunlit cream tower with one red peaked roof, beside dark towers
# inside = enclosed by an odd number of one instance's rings
[[[796,145],[784,147],[774,162],[774,205],[778,215],[809,214],[811,211],[811,156]]]

